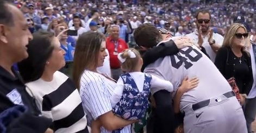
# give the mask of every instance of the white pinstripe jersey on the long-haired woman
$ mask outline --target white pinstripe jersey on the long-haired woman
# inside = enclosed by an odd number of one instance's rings
[[[112,110],[110,98],[113,95],[116,83],[97,72],[85,70],[80,79],[80,96],[83,107],[88,114],[89,124],[93,119]],[[127,125],[121,133],[131,132],[131,126]],[[101,132],[109,132],[101,127]]]

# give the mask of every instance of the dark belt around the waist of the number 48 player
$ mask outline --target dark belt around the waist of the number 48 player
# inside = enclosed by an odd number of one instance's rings
[[[233,91],[229,91],[229,92],[226,92],[224,94],[225,97],[229,98],[229,97],[233,97],[235,96],[235,93]],[[204,101],[201,101],[201,102],[198,102],[196,104],[193,104],[192,105],[192,109],[195,111],[197,109],[200,109],[200,108],[203,108],[203,107],[206,107],[209,105],[210,101],[214,101],[214,102],[220,102],[221,101],[221,98],[213,98],[213,99],[207,99],[207,100],[204,100]]]

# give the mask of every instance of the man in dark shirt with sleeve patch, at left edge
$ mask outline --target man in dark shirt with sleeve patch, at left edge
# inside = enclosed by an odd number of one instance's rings
[[[33,37],[26,19],[20,10],[5,1],[0,1],[0,9],[0,113],[17,104],[27,108],[24,114],[5,125],[7,132],[48,132],[51,119],[40,116],[35,101],[12,68],[28,57],[26,45]]]

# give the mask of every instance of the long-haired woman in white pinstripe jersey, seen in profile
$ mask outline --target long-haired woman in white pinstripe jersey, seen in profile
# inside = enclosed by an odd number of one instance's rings
[[[100,74],[97,67],[102,66],[107,52],[105,36],[99,32],[85,32],[79,36],[74,53],[73,80],[80,91],[83,107],[88,114],[88,122],[102,123],[101,132],[120,129],[131,132],[130,124],[112,112],[110,98],[114,94],[116,81]]]

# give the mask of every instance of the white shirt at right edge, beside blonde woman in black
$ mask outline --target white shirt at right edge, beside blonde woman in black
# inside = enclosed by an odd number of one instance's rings
[[[251,62],[252,62],[253,84],[252,84],[252,89],[248,94],[248,98],[255,98],[256,97],[256,65],[255,65],[255,58],[254,58],[252,46],[250,46],[249,52],[251,55]]]

